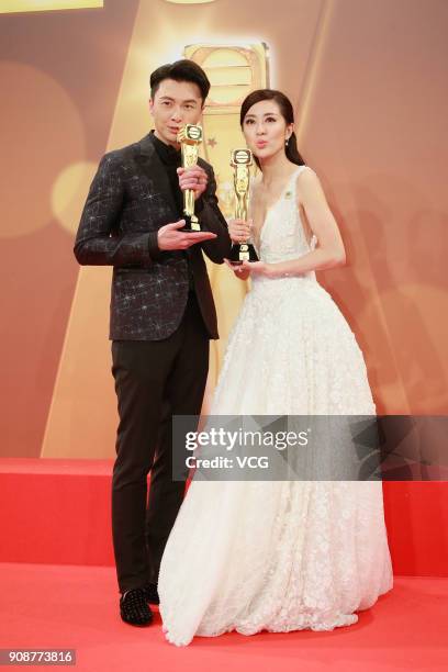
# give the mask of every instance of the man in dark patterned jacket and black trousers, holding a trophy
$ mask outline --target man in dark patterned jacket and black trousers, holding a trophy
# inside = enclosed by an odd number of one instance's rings
[[[181,168],[177,134],[201,120],[210,82],[193,61],[150,76],[155,130],[101,159],[75,243],[79,264],[113,266],[110,339],[120,423],[112,529],[120,613],[153,619],[161,556],[184,493],[172,480],[171,415],[201,411],[216,314],[201,249],[215,264],[231,239],[212,167]],[[192,189],[201,232],[182,232]],[[179,449],[179,447],[178,447]],[[147,474],[150,489],[147,500]]]

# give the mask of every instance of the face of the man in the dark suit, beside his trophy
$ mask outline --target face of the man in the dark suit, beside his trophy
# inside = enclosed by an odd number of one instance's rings
[[[178,147],[177,134],[186,124],[197,124],[202,116],[202,98],[191,81],[164,79],[154,99],[149,99],[155,135],[167,145]]]

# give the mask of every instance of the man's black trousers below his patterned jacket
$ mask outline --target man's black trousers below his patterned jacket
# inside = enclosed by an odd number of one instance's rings
[[[208,371],[209,335],[193,292],[179,328],[168,338],[112,341],[120,416],[112,534],[121,592],[157,583],[186,486],[184,480],[172,480],[171,450],[184,446],[172,447],[171,416],[199,415]]]

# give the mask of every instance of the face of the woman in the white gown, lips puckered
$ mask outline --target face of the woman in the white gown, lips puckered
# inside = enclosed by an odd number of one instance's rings
[[[278,152],[284,153],[284,141],[290,137],[292,124],[287,124],[275,100],[261,100],[248,109],[243,120],[247,146],[258,159]]]

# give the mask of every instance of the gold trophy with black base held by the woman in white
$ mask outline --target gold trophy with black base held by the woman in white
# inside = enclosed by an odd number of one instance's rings
[[[251,165],[253,157],[250,149],[234,149],[232,152],[231,166],[234,169],[235,220],[247,221]],[[235,266],[239,266],[243,261],[258,261],[254,245],[248,240],[232,245],[229,261]]]

